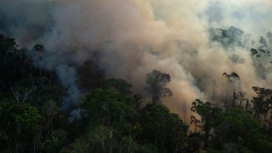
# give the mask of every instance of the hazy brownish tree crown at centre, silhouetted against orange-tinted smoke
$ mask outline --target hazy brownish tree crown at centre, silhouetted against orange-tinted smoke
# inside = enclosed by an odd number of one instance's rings
[[[157,104],[160,102],[160,97],[172,96],[172,91],[167,88],[167,83],[171,81],[170,75],[153,70],[151,73],[146,74],[146,91],[152,95],[152,103]]]

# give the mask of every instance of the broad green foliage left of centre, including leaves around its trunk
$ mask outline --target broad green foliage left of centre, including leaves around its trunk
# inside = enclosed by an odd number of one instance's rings
[[[87,116],[90,121],[90,127],[94,133],[91,133],[94,140],[97,141],[98,136],[103,136],[102,148],[105,152],[105,136],[107,135],[107,150],[117,150],[116,141],[123,138],[123,125],[126,125],[126,118],[135,115],[133,107],[119,102],[119,95],[110,89],[95,89],[90,94],[85,95],[82,104],[82,115]],[[105,127],[101,127],[101,124]],[[99,127],[100,125],[100,127]],[[97,126],[102,133],[98,132]],[[99,141],[99,139],[98,139]],[[122,141],[122,140],[121,140]],[[101,143],[101,142],[100,142]]]

